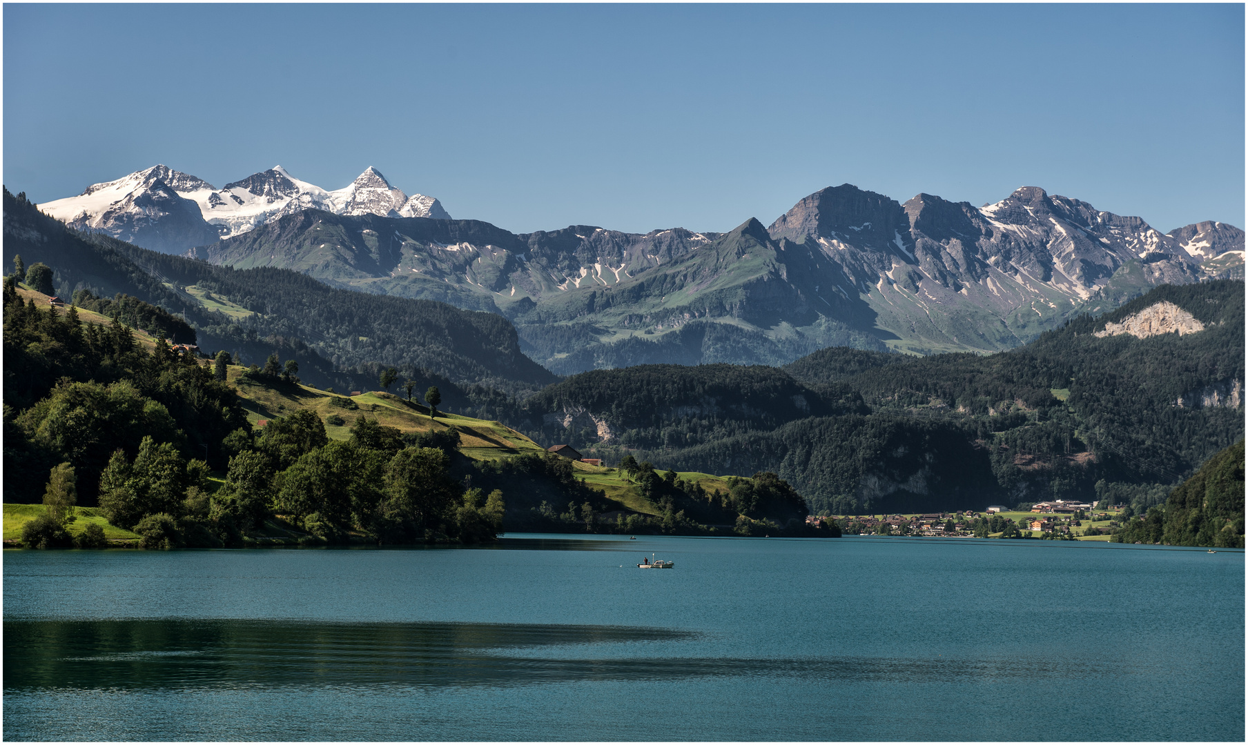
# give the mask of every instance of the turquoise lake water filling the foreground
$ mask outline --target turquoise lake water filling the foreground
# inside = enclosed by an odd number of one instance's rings
[[[638,569],[651,552],[675,569]],[[1244,554],[6,550],[4,738],[1243,740]]]

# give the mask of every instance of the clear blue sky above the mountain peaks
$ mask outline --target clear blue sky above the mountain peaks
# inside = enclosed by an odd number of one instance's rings
[[[524,232],[770,223],[855,183],[1244,226],[1244,7],[4,5],[4,182],[376,166]]]

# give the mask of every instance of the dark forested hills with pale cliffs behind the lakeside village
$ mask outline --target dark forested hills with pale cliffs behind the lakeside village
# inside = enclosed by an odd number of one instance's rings
[[[1166,303],[1202,328],[1107,333]],[[835,513],[1072,495],[1147,509],[1242,437],[1243,333],[1243,282],[1163,286],[991,356],[829,348],[784,378],[735,368],[714,396],[699,386],[715,366],[584,373],[529,399],[525,424],[548,437],[562,424],[574,446],[607,457],[774,469]],[[785,394],[743,406],[768,382]]]

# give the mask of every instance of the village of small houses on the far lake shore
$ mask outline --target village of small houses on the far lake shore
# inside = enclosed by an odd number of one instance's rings
[[[1108,540],[1119,527],[1124,504],[1057,499],[1020,504],[1015,509],[990,505],[975,510],[926,514],[807,515],[814,528],[836,524],[846,535],[922,535],[934,538],[1041,538],[1048,540]]]

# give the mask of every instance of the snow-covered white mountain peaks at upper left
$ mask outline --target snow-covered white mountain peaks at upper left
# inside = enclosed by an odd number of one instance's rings
[[[327,191],[291,176],[282,166],[217,188],[157,165],[94,183],[77,196],[44,202],[39,208],[71,227],[165,253],[181,253],[310,208],[337,215],[451,217],[438,200],[407,196],[372,166],[346,187]]]

